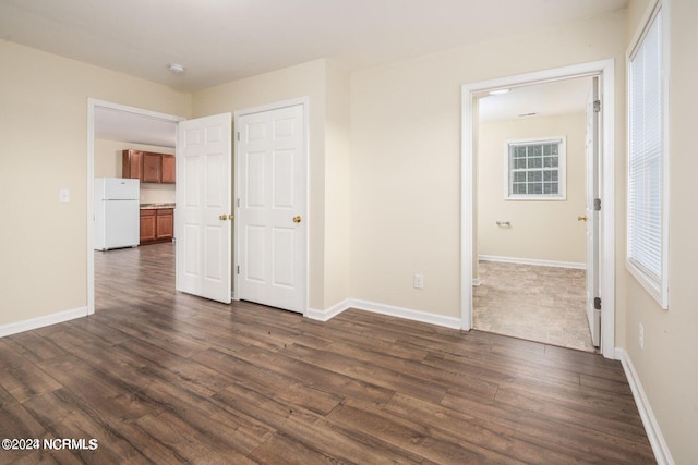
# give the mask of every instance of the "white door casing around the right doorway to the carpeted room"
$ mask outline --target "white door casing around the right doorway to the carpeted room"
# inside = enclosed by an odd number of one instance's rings
[[[601,353],[606,358],[615,355],[615,61],[613,59],[580,63],[513,75],[490,81],[465,84],[461,87],[461,149],[460,149],[460,319],[461,329],[472,329],[472,282],[477,155],[477,106],[478,94],[489,90],[542,84],[574,77],[599,76],[601,79],[601,161],[600,198],[602,209],[599,224],[600,266],[599,282],[603,298],[601,314]]]

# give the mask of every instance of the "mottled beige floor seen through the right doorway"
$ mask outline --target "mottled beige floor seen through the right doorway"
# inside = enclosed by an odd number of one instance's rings
[[[594,352],[585,270],[480,261],[473,322],[481,331]]]

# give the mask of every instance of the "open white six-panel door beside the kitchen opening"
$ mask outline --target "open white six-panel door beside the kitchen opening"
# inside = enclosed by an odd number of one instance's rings
[[[182,121],[177,144],[177,290],[231,301],[230,113]]]

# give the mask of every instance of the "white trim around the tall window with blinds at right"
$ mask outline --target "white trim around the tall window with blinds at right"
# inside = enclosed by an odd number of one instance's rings
[[[662,75],[661,78],[661,90],[660,95],[662,98],[661,102],[661,114],[662,114],[662,148],[661,148],[661,242],[660,242],[660,277],[659,279],[654,279],[651,272],[648,272],[645,267],[641,265],[635,264],[630,256],[630,102],[631,102],[631,60],[634,60],[637,54],[640,46],[643,44],[645,38],[647,37],[652,23],[657,19],[659,14],[662,14],[661,25],[659,29],[660,40],[661,40],[661,64],[660,72]],[[670,57],[669,57],[669,2],[663,0],[654,0],[650,3],[642,21],[640,22],[640,27],[636,33],[633,41],[630,42],[630,47],[626,54],[626,253],[625,253],[625,267],[633,276],[638,283],[657,301],[657,303],[661,306],[662,309],[669,309],[669,181],[670,181],[670,162],[669,162],[669,70],[670,70]]]

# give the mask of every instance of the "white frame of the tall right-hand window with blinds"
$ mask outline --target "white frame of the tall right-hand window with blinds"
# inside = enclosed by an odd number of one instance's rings
[[[642,262],[636,255],[633,255],[634,237],[631,236],[633,228],[633,192],[631,192],[631,166],[634,162],[634,154],[631,154],[633,143],[633,63],[637,57],[638,51],[645,45],[645,39],[648,33],[654,25],[657,17],[661,15],[660,23],[658,25],[659,40],[660,40],[660,62],[658,71],[660,73],[660,89],[659,96],[661,98],[659,114],[661,115],[661,123],[659,127],[659,134],[661,137],[661,147],[659,150],[659,167],[661,169],[659,187],[660,199],[660,216],[659,221],[660,238],[658,243],[653,244],[659,247],[659,276],[650,270],[650,268]],[[640,283],[640,285],[657,301],[657,303],[663,308],[669,309],[669,14],[667,3],[662,0],[657,0],[648,9],[643,21],[640,23],[638,34],[636,34],[634,40],[630,42],[630,48],[626,56],[626,84],[627,84],[627,118],[626,118],[626,259],[625,266],[628,272]],[[649,191],[649,189],[648,189]],[[647,191],[645,192],[647,193]],[[647,231],[646,231],[647,232]]]

